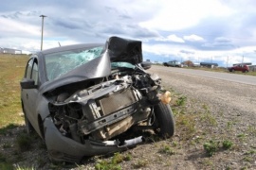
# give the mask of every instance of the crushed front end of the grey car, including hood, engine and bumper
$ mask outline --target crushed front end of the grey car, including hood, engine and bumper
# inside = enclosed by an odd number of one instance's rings
[[[148,74],[141,61],[141,42],[114,37],[96,59],[49,76],[40,90],[48,101],[42,117],[51,160],[119,152],[143,142],[142,136],[123,135],[133,127],[157,127],[155,106],[170,96],[160,93],[161,78]]]

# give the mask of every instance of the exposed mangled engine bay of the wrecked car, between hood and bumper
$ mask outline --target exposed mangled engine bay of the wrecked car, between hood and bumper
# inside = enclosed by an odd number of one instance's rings
[[[50,116],[65,137],[81,144],[87,139],[107,141],[148,120],[159,102],[160,81],[144,71],[114,72],[100,83],[84,82],[87,87],[75,92],[48,93]]]

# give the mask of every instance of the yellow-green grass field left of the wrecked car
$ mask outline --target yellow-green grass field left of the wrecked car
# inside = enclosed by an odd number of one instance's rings
[[[9,124],[24,124],[21,116],[20,80],[22,79],[27,55],[0,55],[0,129]]]

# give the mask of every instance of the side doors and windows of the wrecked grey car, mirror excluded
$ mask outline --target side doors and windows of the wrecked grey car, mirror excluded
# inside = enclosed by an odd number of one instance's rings
[[[35,85],[38,85],[39,82],[39,74],[38,74],[38,61],[36,58],[29,59],[27,62],[27,70],[25,78],[33,79]],[[33,127],[38,127],[37,121],[37,99],[38,99],[38,88],[33,89],[22,89],[22,100],[24,110],[26,112],[26,116],[29,122]]]

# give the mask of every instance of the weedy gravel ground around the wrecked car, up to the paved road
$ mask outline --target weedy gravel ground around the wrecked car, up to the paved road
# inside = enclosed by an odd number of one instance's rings
[[[162,140],[149,132],[145,144],[120,153],[130,158],[118,163],[120,169],[256,169],[256,86],[160,68],[153,66],[149,71],[161,76],[165,88],[173,93],[175,135]],[[182,96],[186,102],[177,106],[174,101]],[[79,165],[55,165],[47,159],[46,147],[39,138],[33,139],[27,151],[17,152],[15,138],[23,132],[24,127],[16,127],[0,138],[1,153],[19,167],[94,169],[97,162],[111,163],[114,158],[95,157]],[[218,145],[212,156],[204,149],[210,141]],[[229,149],[223,147],[224,141],[231,143]]]

